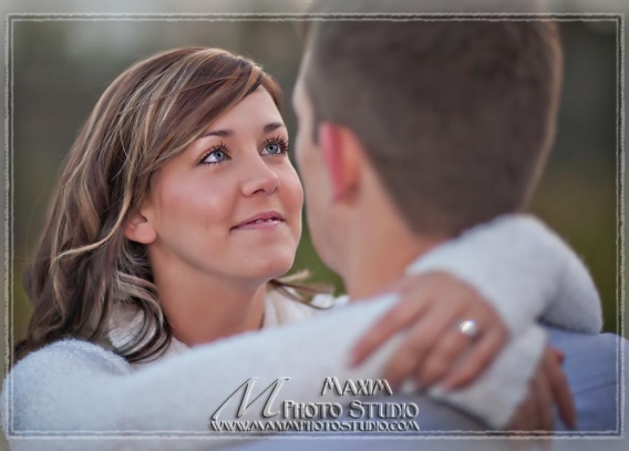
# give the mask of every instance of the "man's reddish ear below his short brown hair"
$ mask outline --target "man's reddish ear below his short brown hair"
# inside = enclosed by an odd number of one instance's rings
[[[321,122],[318,140],[332,184],[332,201],[347,198],[360,178],[359,153],[353,133],[344,126]]]

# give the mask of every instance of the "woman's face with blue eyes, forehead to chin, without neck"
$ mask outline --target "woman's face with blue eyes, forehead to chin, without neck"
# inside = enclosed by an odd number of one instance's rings
[[[223,280],[286,274],[303,204],[287,145],[281,115],[259,88],[159,170],[141,211],[154,229],[154,269]]]

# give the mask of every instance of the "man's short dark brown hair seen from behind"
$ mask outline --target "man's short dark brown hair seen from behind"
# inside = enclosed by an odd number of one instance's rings
[[[357,18],[307,32],[316,121],[355,133],[415,233],[456,235],[526,204],[555,135],[551,20]]]

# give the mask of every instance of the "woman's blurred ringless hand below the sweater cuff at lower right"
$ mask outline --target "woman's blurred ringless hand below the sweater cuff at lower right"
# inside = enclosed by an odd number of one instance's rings
[[[575,403],[566,376],[561,370],[564,356],[547,346],[544,357],[530,381],[527,398],[519,404],[509,422],[509,431],[553,431],[555,421],[553,406],[557,404],[559,417],[568,428],[576,428]]]

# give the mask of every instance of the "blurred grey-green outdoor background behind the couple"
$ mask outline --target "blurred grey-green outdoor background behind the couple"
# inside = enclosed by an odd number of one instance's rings
[[[617,30],[615,22],[560,23],[565,88],[556,146],[530,211],[582,257],[600,291],[605,330],[617,319]],[[22,274],[32,258],[60,165],[99,95],[131,63],[187,44],[225,48],[260,62],[290,109],[300,42],[290,21],[24,20],[13,30],[14,329],[31,312]],[[403,70],[404,68],[400,68]],[[296,269],[342,290],[305,230]]]

